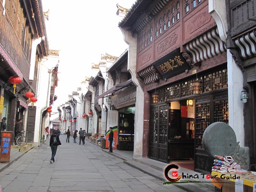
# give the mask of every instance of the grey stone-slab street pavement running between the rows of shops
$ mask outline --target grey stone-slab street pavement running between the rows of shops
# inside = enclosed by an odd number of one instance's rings
[[[56,162],[50,164],[49,140],[33,148],[0,173],[2,192],[182,192],[124,164],[122,159],[108,154],[99,146],[66,143],[61,135]],[[114,151],[115,152],[115,151]]]

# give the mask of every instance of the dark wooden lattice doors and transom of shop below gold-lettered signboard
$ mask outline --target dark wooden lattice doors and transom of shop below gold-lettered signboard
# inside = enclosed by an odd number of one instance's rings
[[[150,105],[149,157],[162,162],[194,158],[194,170],[209,172],[212,159],[204,152],[202,136],[211,123],[228,123],[227,69],[216,69],[198,78],[202,82],[198,95],[191,89],[195,79],[155,90],[159,98],[157,104]],[[188,98],[194,100],[194,136],[186,136],[185,132],[182,138],[175,138],[177,132],[183,132],[184,121],[181,110],[172,110],[170,102],[178,101],[182,106]]]

